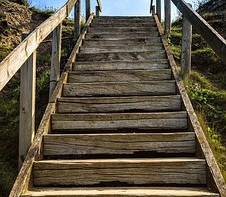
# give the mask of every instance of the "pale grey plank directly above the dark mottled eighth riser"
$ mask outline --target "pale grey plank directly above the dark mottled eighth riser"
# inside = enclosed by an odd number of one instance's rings
[[[153,46],[153,45],[142,45],[142,46],[102,46],[99,43],[98,46],[95,47],[88,47],[84,46],[81,47],[80,53],[107,53],[107,52],[139,52],[139,51],[158,51],[161,50],[163,46]]]

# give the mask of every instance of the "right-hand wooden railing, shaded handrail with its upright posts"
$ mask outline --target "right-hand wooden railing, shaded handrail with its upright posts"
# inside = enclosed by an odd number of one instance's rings
[[[151,1],[151,12],[158,16],[161,22],[161,2],[156,0],[156,12]],[[183,35],[181,50],[181,75],[187,76],[191,70],[191,43],[192,26],[199,33],[209,46],[215,51],[224,64],[226,64],[226,40],[213,29],[190,4],[184,0],[172,0],[175,6],[183,15]],[[171,31],[171,0],[164,0],[165,3],[165,35],[169,36]]]

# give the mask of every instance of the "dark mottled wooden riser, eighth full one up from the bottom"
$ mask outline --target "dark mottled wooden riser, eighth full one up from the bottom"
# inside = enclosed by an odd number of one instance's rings
[[[140,52],[109,52],[109,53],[90,53],[77,55],[77,61],[114,61],[114,60],[153,60],[166,58],[164,50],[158,51],[140,51]]]

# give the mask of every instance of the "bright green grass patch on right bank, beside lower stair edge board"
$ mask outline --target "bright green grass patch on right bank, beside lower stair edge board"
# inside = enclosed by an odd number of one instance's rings
[[[215,87],[205,76],[194,71],[184,82],[199,122],[226,180],[226,148],[221,138],[226,132],[226,111],[219,105],[222,100],[226,100],[226,91]]]

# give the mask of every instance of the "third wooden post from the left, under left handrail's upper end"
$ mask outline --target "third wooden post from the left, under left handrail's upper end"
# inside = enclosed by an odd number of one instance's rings
[[[81,33],[80,26],[81,0],[78,0],[74,8],[74,40],[76,41]]]

